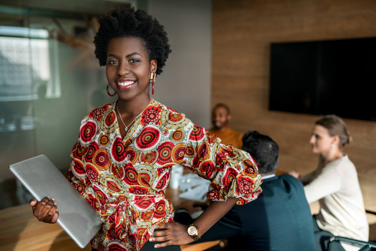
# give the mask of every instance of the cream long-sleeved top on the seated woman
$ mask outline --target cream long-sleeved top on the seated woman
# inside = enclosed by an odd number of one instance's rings
[[[335,236],[368,240],[369,227],[358,173],[346,154],[304,178],[311,180],[304,186],[308,203],[320,202],[320,213],[316,216],[320,229]]]

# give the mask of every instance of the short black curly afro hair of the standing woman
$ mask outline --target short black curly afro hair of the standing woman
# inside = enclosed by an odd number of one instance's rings
[[[99,65],[107,63],[108,43],[112,38],[134,37],[143,41],[143,46],[149,54],[149,60],[157,60],[156,74],[161,74],[170,54],[167,33],[158,20],[143,10],[135,8],[114,9],[99,18],[99,29],[94,37],[96,47],[94,53],[99,59]]]

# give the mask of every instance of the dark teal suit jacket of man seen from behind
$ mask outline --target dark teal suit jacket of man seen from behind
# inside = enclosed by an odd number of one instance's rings
[[[235,205],[203,235],[204,240],[223,230],[233,236],[231,250],[315,251],[312,216],[302,183],[281,175],[264,180],[261,188],[257,199]]]

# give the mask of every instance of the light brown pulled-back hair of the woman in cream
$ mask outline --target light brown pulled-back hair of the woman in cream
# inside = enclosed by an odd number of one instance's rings
[[[340,138],[340,147],[343,147],[352,141],[345,122],[336,115],[325,115],[317,120],[315,124],[325,127],[329,131],[331,137],[338,135]]]

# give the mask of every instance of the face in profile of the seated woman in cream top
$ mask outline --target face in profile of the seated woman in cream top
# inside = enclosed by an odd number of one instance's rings
[[[329,131],[321,125],[315,125],[312,131],[309,143],[312,146],[312,152],[316,154],[323,154],[332,149],[334,137],[329,134]]]

